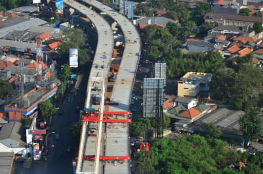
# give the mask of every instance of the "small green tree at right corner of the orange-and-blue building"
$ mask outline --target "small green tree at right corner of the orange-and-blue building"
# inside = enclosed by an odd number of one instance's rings
[[[38,104],[38,112],[44,121],[49,120],[50,114],[51,114],[51,109],[53,107],[54,107],[53,104],[48,99]],[[56,110],[54,110],[52,112],[52,114],[55,115]]]

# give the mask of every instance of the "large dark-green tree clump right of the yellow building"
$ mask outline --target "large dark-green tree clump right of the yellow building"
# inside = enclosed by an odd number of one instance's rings
[[[210,82],[210,91],[213,98],[231,103],[236,109],[262,105],[263,72],[249,64],[241,65],[237,71],[219,69]]]

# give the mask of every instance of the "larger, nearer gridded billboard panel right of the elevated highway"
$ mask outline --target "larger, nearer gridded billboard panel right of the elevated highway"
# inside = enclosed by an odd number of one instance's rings
[[[164,79],[144,78],[143,80],[143,117],[162,115],[164,103]]]

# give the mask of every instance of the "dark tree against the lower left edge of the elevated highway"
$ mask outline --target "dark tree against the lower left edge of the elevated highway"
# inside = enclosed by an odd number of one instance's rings
[[[82,126],[81,122],[76,122],[76,124],[70,125],[68,129],[68,135],[71,137],[72,143],[75,146],[79,145],[81,126]]]

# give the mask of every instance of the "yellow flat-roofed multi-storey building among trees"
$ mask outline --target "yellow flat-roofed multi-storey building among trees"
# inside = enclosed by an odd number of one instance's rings
[[[178,92],[180,97],[196,97],[198,93],[209,91],[209,82],[212,74],[188,72],[178,80]]]

